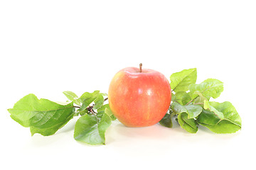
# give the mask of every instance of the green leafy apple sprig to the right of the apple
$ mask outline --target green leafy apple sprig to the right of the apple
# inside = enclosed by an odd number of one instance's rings
[[[171,121],[177,116],[178,124],[184,130],[196,133],[198,125],[203,125],[215,133],[233,133],[241,129],[241,118],[235,107],[228,101],[218,103],[210,98],[218,98],[223,92],[223,82],[206,79],[196,84],[196,69],[184,69],[171,74],[172,101],[169,119],[164,117],[160,124],[171,128]],[[171,113],[170,113],[171,112]],[[161,122],[165,122],[165,124]]]

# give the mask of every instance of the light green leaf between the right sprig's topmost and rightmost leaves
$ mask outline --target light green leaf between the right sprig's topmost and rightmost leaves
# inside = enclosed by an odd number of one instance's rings
[[[192,98],[196,98],[200,92],[209,100],[210,97],[218,98],[220,96],[223,92],[223,82],[218,79],[206,79],[201,84],[191,84],[188,89],[191,91]]]

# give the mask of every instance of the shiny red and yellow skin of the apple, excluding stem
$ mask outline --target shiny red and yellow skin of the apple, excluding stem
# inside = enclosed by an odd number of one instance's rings
[[[114,116],[127,127],[158,123],[171,103],[171,86],[160,72],[127,67],[114,75],[108,91]]]

